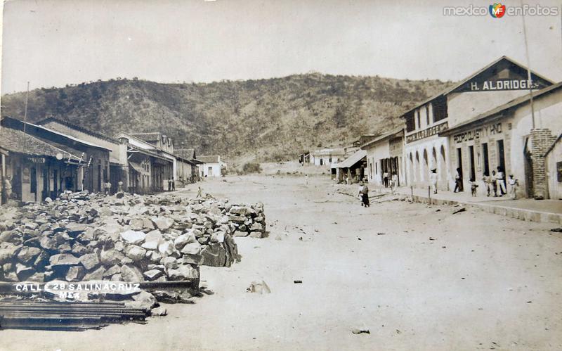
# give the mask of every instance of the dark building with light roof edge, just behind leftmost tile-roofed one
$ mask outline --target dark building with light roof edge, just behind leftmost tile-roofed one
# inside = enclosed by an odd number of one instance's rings
[[[72,175],[66,176],[70,179],[77,179],[77,184],[73,184],[72,188],[76,190],[88,190],[91,192],[104,191],[103,183],[107,182],[110,177],[110,149],[100,146],[90,141],[85,141],[68,134],[55,131],[40,125],[34,125],[29,122],[22,122],[11,117],[2,119],[2,127],[20,130],[33,136],[35,139],[44,141],[55,148],[66,151],[68,154],[77,156],[82,160],[80,167],[77,168],[76,177]],[[76,154],[79,155],[76,155]],[[61,184],[63,175],[58,170],[48,170],[46,174],[49,179],[53,179],[53,184]],[[51,189],[54,193],[60,191],[60,186]]]

